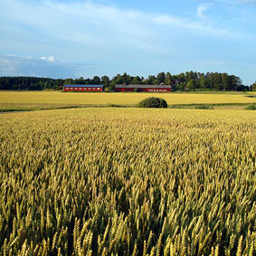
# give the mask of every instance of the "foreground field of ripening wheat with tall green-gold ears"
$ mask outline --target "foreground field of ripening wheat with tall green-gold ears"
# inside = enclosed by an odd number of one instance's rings
[[[1,114],[1,255],[255,255],[256,115]]]

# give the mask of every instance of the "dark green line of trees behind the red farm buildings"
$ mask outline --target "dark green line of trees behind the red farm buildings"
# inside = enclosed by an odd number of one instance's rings
[[[156,76],[149,75],[146,79],[130,76],[127,73],[118,74],[112,79],[108,76],[94,76],[92,79],[50,79],[36,77],[0,77],[0,90],[59,90],[65,84],[104,84],[109,90],[115,89],[115,84],[168,84],[172,90],[250,90],[242,85],[242,80],[234,75],[218,72],[200,73],[189,71],[172,75],[170,72],[160,72]],[[251,86],[252,89],[252,86]]]

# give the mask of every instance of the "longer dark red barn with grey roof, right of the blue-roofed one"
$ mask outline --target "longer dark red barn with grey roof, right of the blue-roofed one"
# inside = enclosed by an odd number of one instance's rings
[[[160,85],[152,85],[152,84],[116,84],[116,91],[147,91],[147,92],[167,92],[171,91],[172,88],[170,85],[160,84]]]

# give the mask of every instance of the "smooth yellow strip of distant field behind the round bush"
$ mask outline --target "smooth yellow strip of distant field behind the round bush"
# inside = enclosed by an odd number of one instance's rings
[[[62,91],[0,91],[0,108],[12,108],[30,105],[61,105],[61,106],[106,106],[108,104],[135,106],[147,97],[161,97],[169,105],[175,104],[222,104],[251,103],[254,95],[244,92],[223,93],[84,93]]]

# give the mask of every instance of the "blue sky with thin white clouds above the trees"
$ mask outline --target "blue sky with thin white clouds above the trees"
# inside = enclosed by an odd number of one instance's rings
[[[256,0],[0,0],[0,76],[256,81]]]

